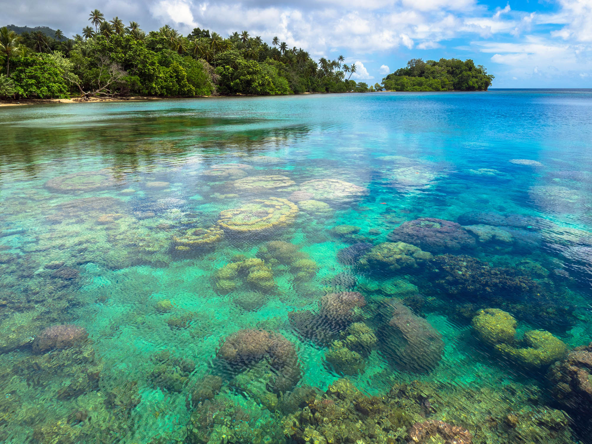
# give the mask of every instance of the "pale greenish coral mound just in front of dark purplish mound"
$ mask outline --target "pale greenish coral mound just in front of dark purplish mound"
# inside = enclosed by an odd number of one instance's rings
[[[419,268],[424,262],[432,260],[431,253],[404,242],[382,242],[372,247],[358,264],[370,272],[395,272],[400,269]]]

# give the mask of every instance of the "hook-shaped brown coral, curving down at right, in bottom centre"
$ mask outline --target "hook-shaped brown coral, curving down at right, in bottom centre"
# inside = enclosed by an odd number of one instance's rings
[[[265,359],[275,371],[274,381],[268,387],[275,393],[288,391],[301,378],[296,349],[279,333],[240,330],[226,337],[216,356],[234,372]]]

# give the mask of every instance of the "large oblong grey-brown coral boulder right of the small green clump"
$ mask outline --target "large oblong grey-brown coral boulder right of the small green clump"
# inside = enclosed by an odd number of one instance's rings
[[[440,333],[400,302],[388,304],[392,318],[378,329],[379,349],[399,369],[426,373],[442,358]]]

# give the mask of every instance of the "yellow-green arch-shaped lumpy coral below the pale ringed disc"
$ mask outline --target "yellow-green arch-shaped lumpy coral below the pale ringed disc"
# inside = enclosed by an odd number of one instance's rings
[[[227,263],[215,272],[215,279],[215,289],[220,294],[229,294],[242,284],[263,293],[273,292],[277,288],[271,268],[259,258]]]

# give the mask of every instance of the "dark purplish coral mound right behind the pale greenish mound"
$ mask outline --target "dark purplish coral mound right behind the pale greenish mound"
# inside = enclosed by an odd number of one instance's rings
[[[388,236],[389,240],[406,242],[432,253],[458,251],[475,247],[475,239],[449,220],[421,217],[402,223]]]

